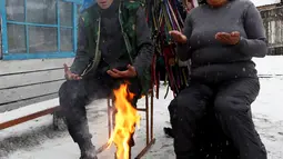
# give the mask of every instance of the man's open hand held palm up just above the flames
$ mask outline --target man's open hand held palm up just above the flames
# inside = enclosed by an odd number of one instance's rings
[[[108,70],[108,74],[112,78],[133,78],[137,77],[137,71],[133,66],[129,64],[128,70],[119,71],[118,69]]]

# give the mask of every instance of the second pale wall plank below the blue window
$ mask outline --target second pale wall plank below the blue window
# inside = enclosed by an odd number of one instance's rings
[[[10,87],[20,87],[39,82],[47,82],[64,78],[63,69],[40,71],[23,74],[11,74],[0,77],[0,90]]]

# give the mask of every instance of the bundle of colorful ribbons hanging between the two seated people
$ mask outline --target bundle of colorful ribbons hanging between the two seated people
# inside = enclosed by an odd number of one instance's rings
[[[156,86],[156,97],[159,97],[160,73],[164,70],[169,78],[168,91],[171,88],[173,95],[176,96],[180,90],[189,85],[189,64],[180,66],[175,51],[176,43],[169,31],[182,31],[186,12],[190,9],[188,4],[193,7],[193,2],[191,0],[183,0],[182,2],[179,0],[143,2],[145,3],[149,26],[152,29],[155,46],[152,77]]]

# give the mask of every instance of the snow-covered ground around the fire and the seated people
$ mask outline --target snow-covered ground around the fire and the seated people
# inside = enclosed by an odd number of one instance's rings
[[[256,129],[266,146],[269,159],[283,159],[283,57],[266,57],[254,59],[261,78],[261,92],[253,103],[252,110]],[[154,99],[154,137],[155,145],[144,158],[174,159],[173,140],[163,133],[163,127],[169,126],[168,105],[172,93],[163,99],[165,88],[161,88],[160,99]],[[139,101],[139,107],[144,100]],[[98,100],[88,107],[90,129],[93,142],[103,145],[108,139],[107,101]],[[142,115],[142,113],[141,113]],[[0,116],[3,117],[3,116]],[[142,116],[144,117],[144,116]],[[144,118],[135,133],[137,146],[133,155],[142,149],[145,140]],[[79,149],[65,131],[51,129],[52,117],[47,116],[34,121],[0,131],[0,158],[7,159],[78,159]],[[8,138],[9,137],[9,138]],[[2,140],[2,141],[1,141]],[[19,143],[16,143],[18,141]],[[2,151],[1,151],[2,150]],[[7,153],[7,151],[10,151]],[[114,148],[99,155],[100,159],[113,158]],[[6,153],[6,156],[4,156]],[[2,156],[1,156],[2,155]]]

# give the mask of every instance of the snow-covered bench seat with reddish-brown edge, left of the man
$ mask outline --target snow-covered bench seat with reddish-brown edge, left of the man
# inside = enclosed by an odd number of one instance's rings
[[[0,130],[54,112],[59,99],[51,99],[0,113]]]

